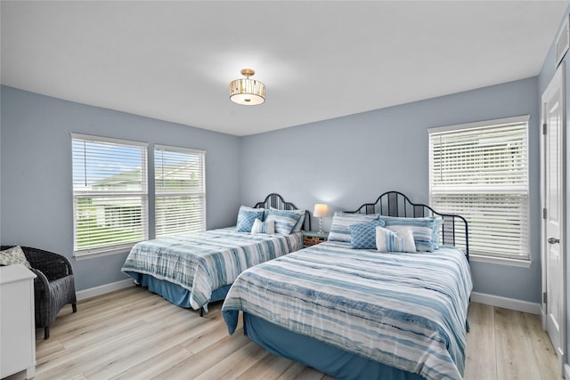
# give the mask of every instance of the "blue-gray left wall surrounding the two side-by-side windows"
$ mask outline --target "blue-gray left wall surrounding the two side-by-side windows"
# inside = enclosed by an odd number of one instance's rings
[[[2,86],[2,244],[73,253],[70,133],[206,150],[208,229],[235,224],[240,139]],[[125,254],[71,259],[77,290],[122,279]]]

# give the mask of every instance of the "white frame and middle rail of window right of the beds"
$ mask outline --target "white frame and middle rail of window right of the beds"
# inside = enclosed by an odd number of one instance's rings
[[[485,121],[479,121],[479,122],[475,122],[475,123],[466,123],[466,124],[460,124],[460,125],[446,125],[446,126],[440,126],[440,127],[434,127],[434,128],[428,128],[428,154],[429,154],[429,160],[428,160],[428,183],[429,183],[429,202],[430,205],[432,206],[436,206],[436,198],[438,195],[443,195],[444,191],[448,191],[450,194],[453,194],[453,191],[455,191],[456,194],[465,194],[466,196],[468,194],[470,194],[472,197],[474,197],[474,194],[478,193],[478,194],[486,194],[487,196],[491,196],[493,197],[499,197],[501,198],[501,195],[503,195],[504,197],[507,196],[507,194],[509,194],[509,190],[510,190],[510,194],[519,194],[520,197],[520,203],[519,205],[521,205],[522,207],[519,208],[520,212],[523,213],[521,214],[521,216],[517,219],[518,222],[515,222],[513,225],[517,226],[520,225],[519,229],[518,229],[518,236],[521,239],[524,239],[521,244],[520,244],[520,248],[517,249],[518,250],[518,254],[514,255],[514,254],[501,254],[499,252],[490,252],[487,248],[487,250],[485,251],[479,251],[477,252],[477,244],[476,244],[476,239],[471,239],[471,237],[473,236],[474,232],[475,232],[475,236],[485,236],[485,232],[479,232],[477,233],[477,227],[475,225],[470,225],[469,226],[469,232],[470,232],[470,252],[469,255],[475,259],[475,261],[481,261],[481,262],[485,262],[485,263],[504,263],[504,264],[509,264],[509,265],[514,265],[514,266],[528,266],[530,264],[530,216],[531,216],[531,207],[530,207],[530,139],[529,139],[529,133],[530,133],[530,125],[529,125],[529,121],[530,121],[530,116],[529,115],[524,115],[524,116],[517,116],[517,117],[504,117],[504,118],[498,118],[498,119],[492,119],[492,120],[485,120]],[[472,186],[468,186],[465,183],[462,183],[460,186],[455,187],[455,189],[453,189],[453,186],[450,186],[449,184],[447,184],[447,189],[445,189],[445,185],[436,185],[435,181],[434,181],[434,171],[436,170],[434,167],[434,155],[435,155],[435,149],[434,149],[434,137],[438,136],[438,135],[442,135],[442,134],[451,134],[451,133],[457,133],[460,134],[461,131],[464,131],[465,134],[468,134],[468,131],[473,131],[476,129],[479,130],[485,130],[485,128],[489,128],[489,130],[495,129],[498,130],[499,128],[503,127],[503,129],[507,129],[509,128],[509,125],[521,125],[522,127],[524,127],[524,132],[521,133],[521,139],[522,141],[524,141],[525,146],[523,148],[521,148],[522,150],[525,150],[523,153],[525,153],[525,157],[522,158],[524,161],[519,162],[519,166],[521,166],[521,169],[513,172],[512,168],[510,170],[511,173],[517,173],[517,174],[522,174],[524,176],[524,181],[525,183],[523,185],[517,186],[516,184],[513,184],[511,186],[507,186],[507,188],[509,190],[499,190],[500,186],[504,186],[501,184],[487,184],[487,185],[479,185],[478,189],[477,189],[477,185],[472,185]],[[476,141],[476,139],[473,139],[473,141]],[[497,150],[499,151],[499,150]],[[441,151],[437,152],[440,155],[441,158]],[[440,165],[440,166],[443,166]],[[501,170],[505,171],[509,168],[509,166],[501,166]],[[514,177],[514,176],[513,176]],[[486,187],[486,188],[485,188]],[[439,188],[439,189],[438,189]],[[469,189],[470,188],[470,189]],[[515,190],[517,189],[517,190]],[[478,190],[478,191],[477,191]],[[493,192],[494,191],[494,192]],[[467,198],[468,199],[468,198]],[[476,203],[472,203],[473,205],[475,205]],[[454,203],[452,204],[454,205]],[[458,205],[460,205],[458,203]],[[463,204],[465,208],[468,208],[469,202],[467,204]],[[506,205],[503,205],[504,207],[506,207]],[[441,205],[437,205],[436,206],[437,209],[441,208]],[[463,208],[461,206],[457,206],[457,210],[454,211],[453,210],[453,206],[449,206],[451,208],[448,208],[446,210],[444,210],[446,213],[455,213],[455,214],[462,214],[462,216],[465,216],[468,221],[469,219],[471,219],[471,215],[468,213],[465,213],[464,211],[457,211],[460,210],[460,208]],[[479,218],[480,221],[482,221],[483,219]],[[505,247],[505,246],[503,246]]]

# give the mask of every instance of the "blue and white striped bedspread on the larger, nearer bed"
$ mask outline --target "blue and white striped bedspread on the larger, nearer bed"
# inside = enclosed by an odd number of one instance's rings
[[[225,298],[239,311],[427,379],[460,379],[472,289],[463,253],[379,253],[326,242],[241,273]]]

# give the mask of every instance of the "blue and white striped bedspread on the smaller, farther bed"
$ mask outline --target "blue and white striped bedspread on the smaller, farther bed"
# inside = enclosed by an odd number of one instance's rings
[[[236,232],[235,227],[142,241],[134,245],[121,268],[148,274],[191,291],[193,309],[207,306],[212,292],[232,285],[258,263],[302,247],[301,232],[266,235]]]

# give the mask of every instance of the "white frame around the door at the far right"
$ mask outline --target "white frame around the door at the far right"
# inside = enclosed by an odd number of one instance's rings
[[[557,83],[558,81],[558,83]],[[546,207],[546,139],[545,134],[543,131],[543,125],[545,124],[545,99],[550,95],[552,91],[555,91],[558,86],[562,87],[562,128],[560,133],[560,140],[561,140],[561,152],[560,155],[560,166],[561,166],[561,176],[560,179],[560,186],[562,191],[561,201],[562,205],[559,205],[562,211],[562,217],[560,219],[560,251],[561,251],[561,260],[562,260],[562,310],[563,316],[562,320],[560,321],[560,345],[562,350],[565,352],[559,352],[558,349],[555,347],[555,351],[558,357],[558,369],[560,374],[564,377],[565,373],[565,365],[566,365],[566,351],[567,351],[567,342],[566,342],[566,69],[564,63],[558,66],[555,75],[550,79],[549,85],[542,93],[541,97],[541,125],[540,125],[540,135],[541,135],[541,213],[542,210]],[[547,211],[548,212],[548,211]],[[548,310],[546,303],[544,303],[544,299],[542,295],[546,292],[547,289],[547,263],[546,263],[546,250],[548,246],[548,237],[546,236],[546,219],[544,217],[541,218],[541,263],[542,263],[542,281],[541,281],[541,321],[542,321],[542,329],[547,330],[547,319],[548,319]],[[548,296],[548,295],[547,295]]]

